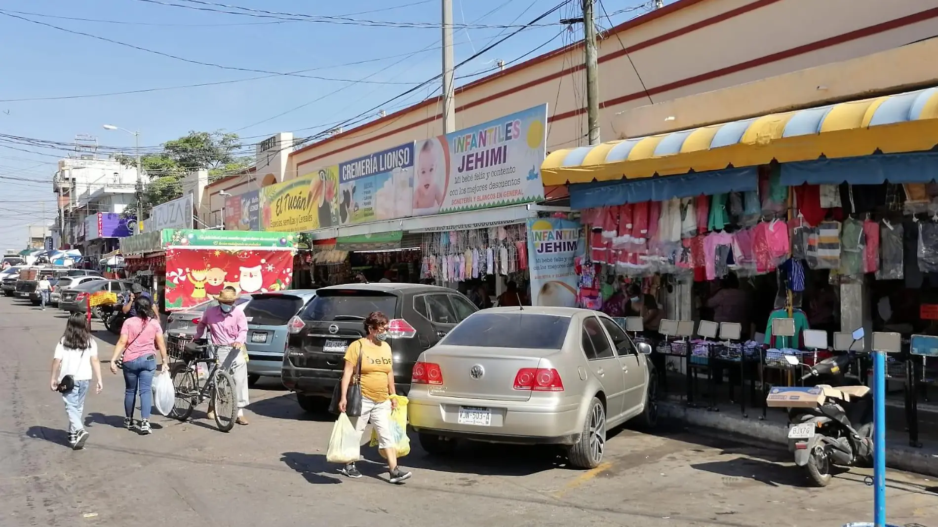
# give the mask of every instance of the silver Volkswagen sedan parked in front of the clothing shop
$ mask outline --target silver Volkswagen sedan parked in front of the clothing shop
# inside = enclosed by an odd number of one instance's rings
[[[420,354],[410,423],[431,454],[461,439],[561,444],[571,465],[594,468],[608,429],[658,420],[648,352],[598,311],[483,309]]]

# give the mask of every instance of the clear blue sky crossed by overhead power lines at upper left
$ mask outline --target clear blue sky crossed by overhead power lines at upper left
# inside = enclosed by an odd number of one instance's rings
[[[453,0],[454,23],[473,25],[456,31],[456,61],[516,29],[479,25],[528,23],[560,3]],[[606,0],[605,10],[598,9],[598,23],[600,27],[621,23],[644,12],[626,11],[643,4],[640,0]],[[494,68],[497,60],[510,62],[526,53],[530,54],[525,58],[530,58],[582,38],[580,28],[565,32],[557,24],[560,19],[577,16],[579,5],[579,1],[567,4],[541,21],[543,25],[525,29],[483,53],[457,70],[457,77]],[[611,16],[607,18],[606,12]],[[320,23],[311,18],[314,16],[352,20]],[[76,134],[87,133],[97,136],[100,144],[130,150],[132,136],[101,125],[139,129],[145,146],[156,146],[189,130],[237,131],[246,143],[277,131],[312,133],[438,74],[440,30],[420,26],[438,24],[439,18],[439,0],[8,0],[0,6],[0,34],[7,44],[7,53],[0,54],[0,71],[4,73],[0,75],[0,134],[69,143]],[[358,22],[362,20],[379,24]],[[543,47],[531,53],[539,46]],[[361,64],[352,64],[356,62]],[[334,80],[280,75],[221,83],[271,74],[233,68],[273,73],[315,68],[303,75]],[[458,83],[473,78],[464,77]],[[367,79],[369,83],[338,79]],[[197,83],[221,84],[94,98],[10,100]],[[386,111],[427,98],[438,89],[438,82],[431,83],[388,104]],[[55,148],[0,141],[0,248],[23,247],[25,225],[40,222],[43,208],[45,218],[55,217],[52,185],[40,181],[51,182],[55,160],[65,154]]]

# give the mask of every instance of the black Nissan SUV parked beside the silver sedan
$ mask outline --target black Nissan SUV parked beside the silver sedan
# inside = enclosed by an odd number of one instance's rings
[[[434,285],[366,283],[324,287],[287,324],[290,339],[283,354],[283,385],[296,392],[303,410],[324,410],[344,368],[342,356],[365,336],[371,311],[391,319],[387,343],[394,358],[397,392],[410,390],[417,356],[477,311],[457,291]]]

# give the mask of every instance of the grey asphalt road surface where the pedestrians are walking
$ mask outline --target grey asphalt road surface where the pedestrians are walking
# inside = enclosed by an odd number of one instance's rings
[[[839,526],[869,521],[863,471],[826,489],[807,487],[787,452],[706,439],[681,430],[617,430],[606,462],[567,469],[551,448],[476,445],[433,459],[414,442],[405,485],[382,478],[366,450],[365,477],[325,463],[326,417],[263,383],[251,390],[251,424],[221,433],[196,411],[154,433],[121,428],[124,383],[106,373],[85,406],[85,450],[65,446],[61,398],[48,388],[64,315],[0,298],[0,526],[334,525]],[[96,322],[110,350],[113,338]],[[102,354],[109,356],[109,352]],[[106,365],[102,369],[107,369]],[[895,524],[938,527],[938,482],[888,474]]]

